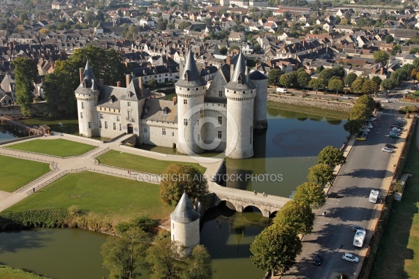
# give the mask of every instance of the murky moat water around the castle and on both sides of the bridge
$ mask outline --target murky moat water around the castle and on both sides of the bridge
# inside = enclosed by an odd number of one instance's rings
[[[344,120],[269,109],[265,133],[255,136],[255,157],[226,160],[227,174],[281,174],[282,181],[227,182],[226,186],[288,197],[307,181],[308,169],[323,147],[340,147],[346,139]],[[0,133],[0,141],[9,135]],[[12,135],[13,136],[13,135]],[[147,146],[146,146],[147,147]],[[172,153],[172,149],[151,148]],[[212,154],[205,154],[212,156]],[[221,204],[205,213],[200,243],[209,250],[214,278],[263,278],[251,260],[249,246],[270,220],[256,212],[237,213]],[[35,229],[0,234],[0,263],[49,278],[108,277],[101,245],[107,236],[82,229]],[[149,278],[144,274],[140,278]]]

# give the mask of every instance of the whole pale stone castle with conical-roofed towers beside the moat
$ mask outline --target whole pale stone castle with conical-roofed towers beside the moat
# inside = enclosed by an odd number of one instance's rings
[[[80,135],[132,133],[138,144],[180,153],[253,156],[253,130],[267,128],[267,77],[258,70],[249,73],[239,53],[227,57],[208,86],[191,50],[179,73],[177,97],[162,100],[143,86],[141,77],[126,75],[126,88],[104,85],[87,61],[75,90]]]

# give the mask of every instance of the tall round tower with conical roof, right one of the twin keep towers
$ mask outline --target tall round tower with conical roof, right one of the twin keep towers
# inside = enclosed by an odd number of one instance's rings
[[[235,159],[253,156],[253,108],[256,87],[249,80],[249,72],[240,52],[233,76],[226,84],[227,146],[226,156]]]

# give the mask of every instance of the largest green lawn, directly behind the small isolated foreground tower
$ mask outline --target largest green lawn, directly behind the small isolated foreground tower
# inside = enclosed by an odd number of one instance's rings
[[[173,211],[173,207],[159,202],[159,186],[156,184],[79,172],[66,174],[4,212],[70,206],[116,221],[137,216],[167,219]]]

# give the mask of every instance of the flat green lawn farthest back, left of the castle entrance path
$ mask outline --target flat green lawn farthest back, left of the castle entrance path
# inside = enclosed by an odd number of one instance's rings
[[[22,151],[31,151],[47,155],[67,157],[78,156],[91,151],[96,146],[90,144],[82,144],[80,142],[72,142],[71,140],[31,140],[29,142],[21,142],[7,146],[10,149]]]

